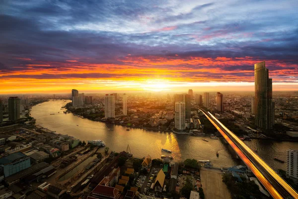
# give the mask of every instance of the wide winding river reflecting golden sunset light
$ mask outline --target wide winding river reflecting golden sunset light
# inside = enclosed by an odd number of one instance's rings
[[[139,128],[131,128],[121,125],[106,124],[77,117],[71,113],[65,114],[61,107],[67,100],[50,100],[32,107],[31,116],[36,119],[36,124],[56,131],[68,134],[80,140],[103,140],[113,151],[125,151],[130,146],[134,157],[142,158],[150,155],[152,158],[160,158],[161,155],[169,155],[162,152],[161,148],[173,151],[175,161],[194,158],[196,160],[211,160],[216,167],[229,167],[237,165],[238,161],[231,158],[226,146],[220,140],[208,139],[189,135],[177,135],[174,133],[162,133]],[[60,112],[60,113],[58,113]],[[51,113],[55,113],[54,115]],[[78,126],[77,126],[78,125]],[[109,130],[113,129],[113,130]],[[286,169],[286,163],[282,164],[273,160],[273,157],[286,160],[286,151],[289,148],[298,149],[298,143],[276,142],[271,140],[252,140],[246,144],[258,150],[258,154],[274,169]],[[103,150],[103,149],[102,149]],[[219,152],[219,157],[216,153]]]

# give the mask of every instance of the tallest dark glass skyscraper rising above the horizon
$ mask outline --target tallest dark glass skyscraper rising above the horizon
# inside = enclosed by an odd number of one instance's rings
[[[254,65],[255,98],[254,112],[255,125],[260,129],[272,129],[274,125],[274,102],[272,101],[272,79],[265,62]]]

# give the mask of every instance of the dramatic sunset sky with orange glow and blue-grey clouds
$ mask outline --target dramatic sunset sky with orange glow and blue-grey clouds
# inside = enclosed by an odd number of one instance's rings
[[[0,94],[298,90],[297,0],[1,0]]]

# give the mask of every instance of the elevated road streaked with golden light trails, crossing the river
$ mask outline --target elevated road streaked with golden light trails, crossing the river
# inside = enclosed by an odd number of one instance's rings
[[[254,175],[259,179],[259,181],[273,198],[298,199],[298,193],[291,186],[289,186],[273,169],[271,169],[271,167],[269,167],[256,153],[254,153],[252,149],[250,149],[242,140],[240,140],[235,134],[227,129],[210,112],[206,112],[201,108],[199,109],[224,136],[225,140],[235,150],[242,161],[251,169]]]

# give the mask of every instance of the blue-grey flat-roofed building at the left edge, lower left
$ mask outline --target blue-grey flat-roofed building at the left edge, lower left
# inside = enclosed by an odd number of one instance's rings
[[[21,152],[12,153],[0,159],[0,172],[4,174],[5,178],[30,166],[30,157]]]

